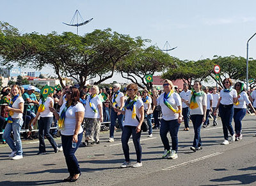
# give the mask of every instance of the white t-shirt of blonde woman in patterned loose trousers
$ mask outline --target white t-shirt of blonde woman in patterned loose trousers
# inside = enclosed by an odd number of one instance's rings
[[[85,118],[100,118],[100,112],[99,112],[99,108],[98,108],[99,104],[102,106],[102,101],[100,101],[100,97],[97,95],[91,99],[92,106],[94,108],[96,108],[97,112],[94,112],[92,110],[92,108],[90,108],[89,98],[90,98],[90,96],[88,96],[87,100],[86,100],[84,117]]]

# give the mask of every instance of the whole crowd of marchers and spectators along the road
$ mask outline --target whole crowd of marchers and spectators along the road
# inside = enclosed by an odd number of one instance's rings
[[[177,159],[178,132],[184,121],[184,131],[189,131],[191,120],[194,129],[194,139],[190,149],[193,152],[202,150],[204,141],[200,138],[201,127],[209,127],[209,117],[213,118],[212,126],[218,125],[220,115],[223,126],[223,145],[228,145],[228,132],[231,141],[242,140],[242,120],[246,115],[247,106],[256,114],[256,90],[244,89],[244,84],[236,82],[232,85],[230,78],[223,80],[223,89],[219,87],[204,87],[195,81],[193,89],[189,90],[184,83],[183,90],[175,89],[172,81],[163,81],[163,90],[147,90],[141,92],[138,85],[131,83],[121,92],[121,85],[115,83],[111,89],[99,89],[92,85],[90,89],[77,89],[67,85],[63,90],[55,90],[47,97],[35,96],[35,87],[29,86],[24,92],[22,87],[13,85],[4,87],[1,91],[0,130],[3,136],[0,140],[12,149],[9,157],[13,160],[22,159],[23,138],[33,137],[33,127],[38,125],[39,147],[38,155],[46,154],[44,139],[47,138],[55,153],[62,151],[65,156],[69,176],[65,182],[76,182],[81,175],[75,152],[83,143],[85,146],[100,143],[100,124],[109,124],[109,143],[115,141],[116,127],[122,130],[122,149],[125,161],[120,166],[127,168],[142,166],[142,148],[140,145],[141,127],[148,126],[148,138],[153,136],[152,129],[159,129],[163,143],[163,158]],[[161,120],[159,117],[161,116]],[[235,129],[232,127],[234,119]],[[116,120],[118,122],[116,122]],[[61,146],[54,136],[61,134]],[[0,132],[1,132],[0,131]],[[172,145],[167,134],[170,133]],[[84,134],[84,140],[83,140]],[[129,138],[132,136],[136,150],[137,162],[131,165],[129,156]]]

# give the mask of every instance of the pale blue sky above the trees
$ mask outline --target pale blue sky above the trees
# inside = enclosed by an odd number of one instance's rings
[[[12,0],[1,2],[0,20],[22,33],[76,33],[76,27],[62,22],[70,23],[79,10],[84,20],[93,18],[79,27],[79,35],[109,27],[150,39],[159,48],[168,41],[177,47],[170,55],[196,61],[214,55],[246,57],[246,42],[256,32],[255,7],[255,0]],[[256,36],[249,57],[256,59]]]

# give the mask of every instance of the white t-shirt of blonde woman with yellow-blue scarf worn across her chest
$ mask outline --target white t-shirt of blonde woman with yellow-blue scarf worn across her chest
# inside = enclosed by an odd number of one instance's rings
[[[170,103],[172,105],[172,107],[175,110],[178,110],[178,106],[181,106],[181,98],[179,96],[178,93],[173,92],[173,94],[171,94],[171,96],[167,99],[168,103]],[[174,113],[172,110],[170,110],[170,108],[168,108],[168,106],[166,106],[164,104],[164,94],[161,94],[158,98],[157,98],[157,105],[161,106],[161,110],[163,113],[163,119],[168,121],[168,120],[176,120],[177,118],[179,118],[179,113]]]

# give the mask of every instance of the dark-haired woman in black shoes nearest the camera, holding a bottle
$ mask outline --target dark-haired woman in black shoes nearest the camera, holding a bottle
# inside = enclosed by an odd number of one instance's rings
[[[69,87],[66,91],[67,102],[62,104],[60,115],[50,107],[58,120],[59,129],[61,130],[61,143],[63,154],[65,155],[69,176],[64,182],[76,182],[81,175],[75,152],[83,138],[83,127],[81,123],[84,118],[84,106],[79,103],[80,93],[76,87]]]

